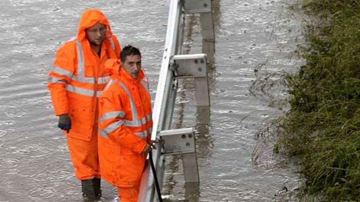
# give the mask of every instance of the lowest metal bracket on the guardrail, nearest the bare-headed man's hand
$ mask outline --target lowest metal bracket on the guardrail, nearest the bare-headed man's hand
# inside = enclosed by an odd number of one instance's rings
[[[195,152],[195,129],[180,128],[162,130],[159,133],[163,155],[175,155]]]

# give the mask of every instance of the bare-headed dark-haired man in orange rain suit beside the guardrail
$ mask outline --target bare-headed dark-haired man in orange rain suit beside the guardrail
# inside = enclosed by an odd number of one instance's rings
[[[99,100],[99,161],[102,177],[117,186],[121,202],[137,202],[145,159],[151,151],[152,110],[140,51],[126,46]]]

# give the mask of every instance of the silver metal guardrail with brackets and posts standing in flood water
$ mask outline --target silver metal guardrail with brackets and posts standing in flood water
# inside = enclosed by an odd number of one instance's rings
[[[153,108],[153,130],[151,134],[152,140],[158,140],[157,149],[152,151],[152,157],[160,187],[162,187],[165,170],[165,156],[171,154],[183,156],[185,182],[199,182],[194,128],[170,129],[178,79],[194,78],[197,106],[210,106],[207,55],[181,54],[186,13],[202,13],[203,47],[206,42],[210,41],[213,45],[215,41],[213,38],[211,0],[170,1],[166,41]],[[209,51],[213,53],[214,50],[209,49]],[[141,179],[138,202],[157,202],[158,198],[155,193],[154,177],[147,162]]]

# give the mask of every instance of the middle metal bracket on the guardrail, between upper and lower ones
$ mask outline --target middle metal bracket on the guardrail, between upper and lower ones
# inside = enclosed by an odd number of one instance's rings
[[[204,53],[174,55],[172,59],[177,65],[176,77],[197,77],[207,74],[207,60]]]

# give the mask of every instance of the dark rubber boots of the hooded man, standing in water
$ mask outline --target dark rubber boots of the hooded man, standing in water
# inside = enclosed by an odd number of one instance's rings
[[[81,180],[82,196],[84,201],[96,201],[100,199],[100,178]]]

